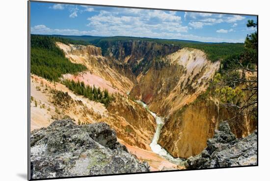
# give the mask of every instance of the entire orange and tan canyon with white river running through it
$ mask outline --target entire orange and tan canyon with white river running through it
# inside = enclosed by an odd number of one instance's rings
[[[31,74],[31,131],[67,118],[77,125],[106,123],[129,153],[147,162],[150,171],[160,171],[188,168],[186,159],[200,154],[219,124],[232,118],[215,97],[201,99],[220,68],[220,61],[210,61],[202,50],[142,40],[108,42],[102,48],[56,45],[71,62],[87,68],[61,79],[106,89],[114,101],[105,106],[61,81]],[[65,102],[57,101],[57,91],[67,93]],[[228,124],[242,138],[257,122],[245,116]]]

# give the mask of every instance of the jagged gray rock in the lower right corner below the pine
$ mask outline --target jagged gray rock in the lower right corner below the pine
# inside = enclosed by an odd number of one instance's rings
[[[237,139],[227,122],[221,122],[213,138],[207,140],[206,149],[189,157],[190,169],[257,165],[257,130],[245,138]]]

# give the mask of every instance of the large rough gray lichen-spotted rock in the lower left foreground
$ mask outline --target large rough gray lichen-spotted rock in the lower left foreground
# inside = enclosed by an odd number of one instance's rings
[[[54,121],[31,132],[32,179],[148,172],[117,142],[106,123],[78,126],[71,120]]]

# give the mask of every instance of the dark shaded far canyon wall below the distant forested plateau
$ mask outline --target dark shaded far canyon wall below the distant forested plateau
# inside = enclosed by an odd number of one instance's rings
[[[106,42],[98,45],[104,50],[106,56],[127,63],[135,76],[146,72],[154,59],[176,52],[180,46],[162,44],[153,41],[131,40]]]

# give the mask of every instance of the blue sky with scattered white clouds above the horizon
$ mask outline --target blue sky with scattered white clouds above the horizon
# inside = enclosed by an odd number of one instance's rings
[[[181,8],[181,7],[179,7]],[[31,33],[243,42],[256,16],[31,2]]]

